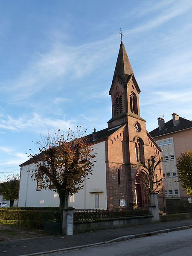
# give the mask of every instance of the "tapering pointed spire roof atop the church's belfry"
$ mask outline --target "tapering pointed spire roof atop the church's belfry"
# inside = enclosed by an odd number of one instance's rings
[[[113,79],[115,78],[115,76],[119,76],[124,84],[126,84],[131,74],[133,74],[133,70],[129,62],[127,52],[125,50],[125,46],[121,42]]]

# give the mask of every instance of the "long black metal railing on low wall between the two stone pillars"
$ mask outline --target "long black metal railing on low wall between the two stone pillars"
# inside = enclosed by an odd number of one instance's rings
[[[149,209],[75,209],[74,221],[101,220],[141,215],[149,215]]]

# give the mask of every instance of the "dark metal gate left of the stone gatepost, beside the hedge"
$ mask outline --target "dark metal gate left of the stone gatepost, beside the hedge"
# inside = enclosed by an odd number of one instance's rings
[[[62,217],[61,210],[45,210],[44,232],[61,234]]]

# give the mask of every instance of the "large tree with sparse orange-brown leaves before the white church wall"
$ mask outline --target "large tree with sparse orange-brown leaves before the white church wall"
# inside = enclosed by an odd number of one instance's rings
[[[77,126],[75,131],[68,129],[66,138],[60,130],[42,135],[36,143],[39,154],[30,154],[35,162],[35,169],[29,170],[31,177],[41,181],[41,188],[58,192],[60,208],[68,207],[69,195],[82,189],[91,174],[95,155],[85,133]]]

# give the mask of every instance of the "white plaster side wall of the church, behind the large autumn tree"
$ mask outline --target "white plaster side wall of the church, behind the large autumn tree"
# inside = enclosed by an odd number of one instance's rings
[[[93,167],[93,175],[87,176],[84,188],[70,197],[69,205],[75,209],[94,209],[95,194],[99,193],[99,208],[107,208],[106,192],[106,164],[105,142],[93,145],[93,154],[96,154],[96,163]],[[59,196],[49,189],[37,191],[37,181],[32,181],[28,170],[34,169],[34,165],[23,166],[20,176],[19,202],[20,207],[54,207],[59,206]],[[93,192],[93,193],[90,193]],[[95,192],[95,193],[94,193]]]

